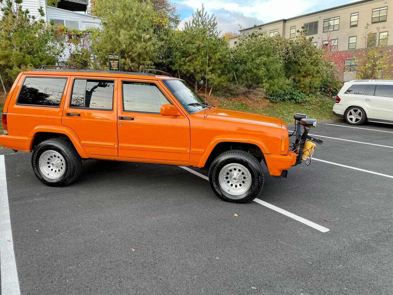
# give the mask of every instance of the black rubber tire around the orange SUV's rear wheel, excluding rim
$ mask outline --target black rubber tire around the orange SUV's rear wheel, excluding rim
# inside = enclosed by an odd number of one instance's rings
[[[49,150],[56,151],[64,159],[65,171],[57,179],[48,178],[44,175],[39,166],[40,156],[45,151]],[[70,142],[62,139],[48,139],[38,144],[33,150],[33,154],[31,155],[31,166],[33,166],[35,176],[37,176],[42,183],[48,186],[66,186],[73,183],[79,175],[81,175],[82,160],[75,150],[75,147],[73,147]]]

